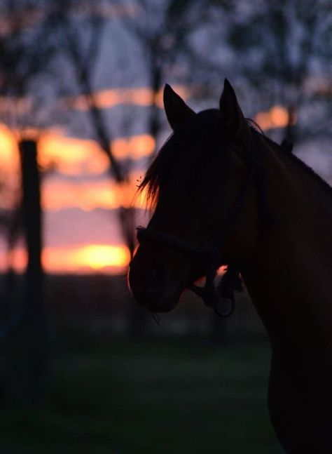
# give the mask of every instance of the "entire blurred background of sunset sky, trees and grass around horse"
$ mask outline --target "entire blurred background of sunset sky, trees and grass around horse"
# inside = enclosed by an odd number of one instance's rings
[[[126,269],[141,175],[227,77],[332,182],[331,0],[0,0],[0,453],[281,453],[247,294],[159,325]],[[305,194],[303,194],[305,196]]]

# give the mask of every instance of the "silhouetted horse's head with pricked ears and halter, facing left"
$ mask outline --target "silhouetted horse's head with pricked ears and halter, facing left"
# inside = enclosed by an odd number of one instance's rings
[[[219,109],[195,113],[168,85],[164,106],[173,133],[141,183],[153,215],[128,275],[134,298],[152,312],[172,309],[221,265],[247,260],[259,230],[252,131],[230,83]]]

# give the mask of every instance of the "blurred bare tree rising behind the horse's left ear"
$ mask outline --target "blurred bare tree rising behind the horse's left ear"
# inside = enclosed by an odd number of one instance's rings
[[[188,86],[194,68],[198,69],[202,63],[198,62],[191,41],[196,28],[205,23],[200,3],[196,0],[136,0],[137,13],[123,18],[123,24],[139,42],[144,55],[146,86],[151,93],[146,126],[156,144],[164,124],[158,102],[162,86],[165,81]]]

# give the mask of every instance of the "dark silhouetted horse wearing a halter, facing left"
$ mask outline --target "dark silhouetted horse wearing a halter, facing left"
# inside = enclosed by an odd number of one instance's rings
[[[189,288],[216,309],[216,270],[240,273],[270,340],[282,447],[331,454],[332,188],[244,118],[227,79],[218,109],[195,113],[168,85],[164,107],[172,135],[141,183],[153,215],[138,229],[132,294],[167,312]]]

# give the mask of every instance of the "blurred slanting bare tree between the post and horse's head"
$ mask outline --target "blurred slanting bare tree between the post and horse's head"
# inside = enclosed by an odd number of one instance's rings
[[[80,18],[77,13],[75,2],[57,2],[53,17],[60,32],[58,42],[74,69],[79,93],[83,95],[88,106],[95,138],[109,159],[111,178],[114,178],[118,185],[123,185],[129,176],[113,154],[111,132],[104,120],[102,109],[99,108],[93,86],[95,65],[100,55],[99,47],[106,21],[102,14],[102,2],[95,1],[93,6],[88,2],[81,2]],[[120,206],[119,221],[130,253],[134,250],[133,232],[128,229],[128,225],[132,225],[132,215],[132,210]]]

